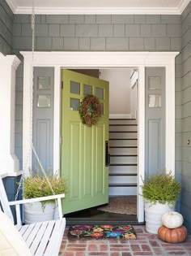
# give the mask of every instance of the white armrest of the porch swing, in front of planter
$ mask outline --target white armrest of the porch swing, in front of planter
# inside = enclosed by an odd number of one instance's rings
[[[17,218],[17,224],[21,225],[21,219],[20,219],[20,207],[19,205],[23,205],[28,202],[42,202],[47,200],[57,200],[57,206],[58,206],[58,215],[59,219],[62,219],[62,202],[61,199],[65,197],[65,193],[58,194],[58,195],[52,195],[52,196],[46,196],[46,197],[36,197],[36,198],[30,198],[30,199],[23,199],[18,201],[12,201],[9,202],[10,206],[15,206],[16,210],[16,218]]]

